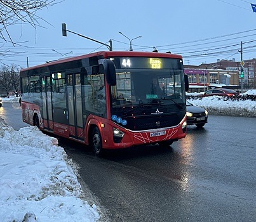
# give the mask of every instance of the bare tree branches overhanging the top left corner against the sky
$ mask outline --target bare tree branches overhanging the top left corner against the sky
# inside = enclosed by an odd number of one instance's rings
[[[41,27],[43,18],[36,15],[38,10],[57,4],[56,0],[0,0],[0,39],[15,44],[8,31],[10,25],[29,23],[36,29]]]

